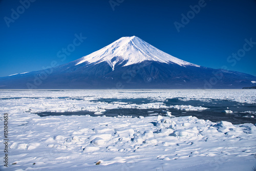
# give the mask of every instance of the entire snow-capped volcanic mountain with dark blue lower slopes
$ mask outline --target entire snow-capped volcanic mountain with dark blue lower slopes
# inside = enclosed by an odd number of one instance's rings
[[[211,69],[121,37],[65,65],[0,78],[0,89],[241,89],[256,77]]]

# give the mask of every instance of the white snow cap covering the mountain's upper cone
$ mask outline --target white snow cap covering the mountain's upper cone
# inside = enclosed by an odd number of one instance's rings
[[[78,59],[76,65],[83,62],[100,63],[106,61],[114,70],[117,62],[124,62],[123,66],[129,66],[145,60],[177,63],[180,66],[200,67],[169,55],[136,36],[121,37],[112,44]]]

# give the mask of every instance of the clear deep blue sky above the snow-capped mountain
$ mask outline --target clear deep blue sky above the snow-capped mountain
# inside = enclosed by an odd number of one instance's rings
[[[53,60],[61,65],[133,35],[197,65],[256,76],[256,45],[245,45],[250,38],[256,44],[256,1],[202,1],[36,0],[26,9],[0,0],[0,76],[41,70]],[[200,12],[191,12],[198,4]],[[191,19],[178,32],[181,14]],[[57,53],[80,33],[87,39],[61,61]],[[242,57],[228,58],[238,52]]]

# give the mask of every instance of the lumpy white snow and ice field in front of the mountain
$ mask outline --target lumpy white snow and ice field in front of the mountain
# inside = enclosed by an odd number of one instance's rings
[[[253,170],[256,126],[192,116],[47,116],[36,112],[177,108],[160,102],[106,103],[100,98],[225,99],[255,103],[255,90],[0,91],[1,158],[8,113],[8,167],[0,170]],[[81,100],[83,99],[83,100]],[[254,119],[254,118],[253,118]],[[2,161],[2,162],[3,162]],[[97,165],[96,165],[97,163]]]

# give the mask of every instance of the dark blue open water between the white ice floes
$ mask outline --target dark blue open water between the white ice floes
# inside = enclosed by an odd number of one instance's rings
[[[156,102],[156,100],[139,98],[139,99],[98,99],[97,101],[101,102],[127,102],[129,104],[146,104],[150,102]],[[245,113],[245,111],[256,112],[256,104],[248,103],[239,103],[229,100],[218,100],[211,99],[210,101],[199,101],[199,100],[189,100],[183,101],[181,98],[167,99],[164,102],[165,105],[192,105],[192,106],[202,106],[209,108],[202,111],[181,111],[177,109],[111,109],[103,112],[102,115],[114,117],[114,116],[154,116],[154,115],[166,115],[166,111],[172,112],[173,116],[196,116],[199,119],[210,120],[212,122],[218,121],[228,121],[233,124],[242,124],[242,123],[256,123],[256,116],[253,113]],[[227,109],[228,108],[228,109]],[[231,110],[233,113],[225,113],[224,110]],[[89,111],[79,111],[79,112],[41,112],[36,113],[41,117],[45,116],[60,116],[60,115],[91,115],[91,116],[102,116],[95,115],[94,112]],[[253,116],[254,118],[252,118]]]

